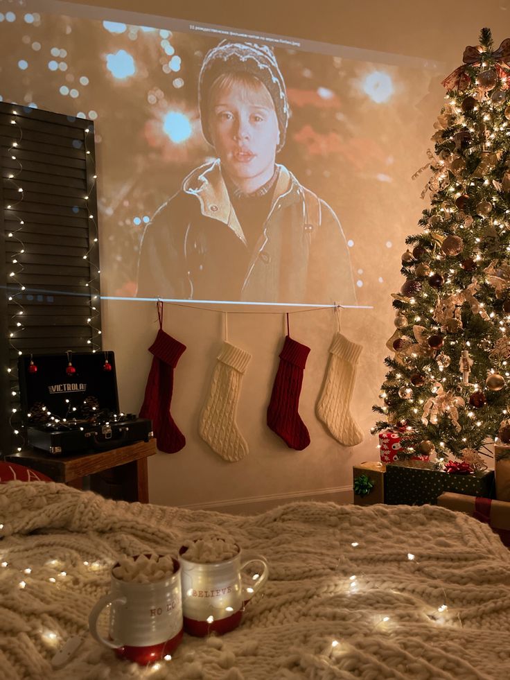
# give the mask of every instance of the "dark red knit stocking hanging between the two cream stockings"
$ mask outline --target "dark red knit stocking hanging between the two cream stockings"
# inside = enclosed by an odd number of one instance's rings
[[[309,351],[310,347],[292,340],[289,335],[285,336],[270,405],[267,407],[267,425],[287,446],[297,451],[303,451],[310,444],[306,425],[297,412]]]

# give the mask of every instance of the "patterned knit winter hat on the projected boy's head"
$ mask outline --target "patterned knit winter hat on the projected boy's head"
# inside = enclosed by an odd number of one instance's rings
[[[271,95],[278,119],[280,143],[277,150],[279,151],[285,144],[289,107],[285,81],[272,49],[267,45],[258,45],[252,42],[223,40],[205,55],[198,78],[198,105],[200,107],[202,132],[211,145],[209,91],[213,82],[222,73],[250,73],[265,85]]]

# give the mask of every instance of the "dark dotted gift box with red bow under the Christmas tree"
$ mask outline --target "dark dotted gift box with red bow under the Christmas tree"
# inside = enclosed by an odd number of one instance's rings
[[[483,470],[459,475],[427,467],[393,463],[386,467],[385,503],[387,505],[437,505],[445,491],[467,496],[494,498],[494,471]]]

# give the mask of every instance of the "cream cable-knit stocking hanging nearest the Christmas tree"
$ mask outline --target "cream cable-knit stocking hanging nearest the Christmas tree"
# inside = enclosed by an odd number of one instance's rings
[[[362,346],[335,333],[329,348],[324,387],[317,401],[317,417],[344,446],[363,441],[363,433],[351,415],[351,397]]]

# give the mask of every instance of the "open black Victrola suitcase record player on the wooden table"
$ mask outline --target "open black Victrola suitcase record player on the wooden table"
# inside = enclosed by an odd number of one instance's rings
[[[119,412],[113,352],[21,356],[18,369],[30,446],[69,455],[152,437],[150,420]]]

